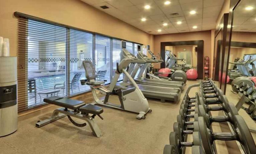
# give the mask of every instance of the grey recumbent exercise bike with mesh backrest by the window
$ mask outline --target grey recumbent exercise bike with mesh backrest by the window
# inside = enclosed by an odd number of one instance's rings
[[[124,42],[125,43],[125,42]],[[124,44],[122,41],[122,45]],[[121,56],[121,55],[120,55]],[[152,112],[152,110],[149,108],[148,100],[143,95],[142,91],[139,89],[138,85],[134,81],[134,79],[130,76],[129,73],[125,70],[131,63],[146,63],[145,60],[139,60],[139,59],[132,59],[132,58],[124,58],[120,62],[120,64],[116,64],[116,70],[115,75],[109,85],[109,89],[104,88],[105,80],[98,80],[96,81],[96,71],[95,68],[92,65],[91,61],[83,61],[83,67],[85,69],[85,76],[86,80],[80,80],[82,85],[88,85],[90,86],[93,98],[95,102],[92,104],[95,105],[102,105],[106,107],[111,107],[123,111],[129,111],[138,113],[137,119],[145,119],[145,115],[148,112]],[[113,104],[108,102],[110,94],[113,92],[114,87],[118,81],[118,78],[121,73],[124,73],[127,78],[130,80],[134,88],[126,89],[126,90],[117,90],[118,98],[120,101],[120,104]],[[96,90],[99,90],[100,92],[104,93],[106,96],[104,100],[100,100],[97,96]]]

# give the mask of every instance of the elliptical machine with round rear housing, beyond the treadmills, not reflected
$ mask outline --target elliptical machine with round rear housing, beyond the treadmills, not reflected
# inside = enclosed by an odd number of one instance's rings
[[[156,56],[154,53],[152,53],[152,51],[150,50],[150,46],[148,45],[148,53],[151,55],[151,59],[157,59],[158,56]],[[160,55],[159,55],[160,56]],[[160,60],[159,60],[161,63],[164,62],[162,60],[162,57],[160,56]],[[187,75],[184,71],[182,70],[173,70],[173,69],[170,69],[170,73],[169,74],[169,77],[163,77],[163,76],[160,76],[161,74],[163,73],[160,73],[160,72],[155,72],[154,74],[152,73],[153,72],[153,68],[154,66],[152,64],[149,64],[148,67],[146,68],[146,71],[145,72],[148,72],[147,75],[152,79],[152,78],[155,78],[155,79],[158,79],[158,80],[171,80],[171,81],[179,81],[179,82],[184,82],[186,84],[187,82]],[[145,76],[146,77],[146,73],[145,73]]]

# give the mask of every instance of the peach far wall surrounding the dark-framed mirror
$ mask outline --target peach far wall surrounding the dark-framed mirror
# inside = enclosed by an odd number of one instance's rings
[[[203,56],[209,56],[210,63],[212,63],[211,30],[199,31],[199,32],[155,35],[154,36],[154,53],[158,54],[161,52],[161,42],[193,41],[193,40],[204,40],[204,55]],[[156,65],[155,68],[160,68],[160,64]],[[212,69],[210,69],[210,75],[211,74],[212,74]]]

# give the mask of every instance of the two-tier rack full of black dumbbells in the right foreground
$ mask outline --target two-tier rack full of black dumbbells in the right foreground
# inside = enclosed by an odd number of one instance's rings
[[[198,86],[200,86],[200,96],[196,93],[196,97],[190,98],[188,94],[191,88]],[[191,104],[193,102],[195,104]],[[217,106],[209,107],[210,104],[216,104]],[[195,108],[191,109],[193,106]],[[165,146],[164,154],[169,153],[169,151],[173,152],[175,149],[177,149],[176,152],[174,151],[175,153],[184,154],[186,147],[191,146],[192,154],[216,153],[214,140],[234,140],[241,153],[254,153],[256,151],[256,145],[244,119],[238,114],[235,105],[227,100],[223,92],[211,79],[189,86],[180,108],[177,122],[174,123],[174,132],[170,133],[170,145]],[[193,111],[195,111],[195,114],[190,113]],[[222,111],[224,116],[211,116],[209,111]],[[192,117],[195,119],[194,121],[190,121]],[[227,122],[232,133],[214,132],[212,122]],[[193,128],[188,126],[193,126]],[[188,134],[192,133],[193,142],[186,142]],[[194,133],[200,133],[201,135],[194,136]]]

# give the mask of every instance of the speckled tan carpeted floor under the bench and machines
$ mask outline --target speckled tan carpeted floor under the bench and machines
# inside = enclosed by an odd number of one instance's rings
[[[188,81],[187,87],[197,81]],[[197,88],[191,90],[194,96]],[[118,102],[117,96],[110,100]],[[76,96],[75,99],[90,102],[91,95]],[[165,144],[169,143],[169,133],[173,131],[173,123],[179,114],[180,102],[161,103],[148,99],[153,110],[145,120],[136,119],[136,114],[111,108],[104,108],[101,114],[104,120],[95,120],[103,132],[100,138],[94,137],[89,127],[76,127],[67,117],[36,128],[38,120],[46,119],[57,108],[52,106],[37,112],[19,117],[18,130],[0,138],[1,154],[161,154]],[[77,120],[79,122],[79,120]],[[220,131],[219,124],[213,124]],[[217,149],[227,153],[224,141],[217,141]],[[189,148],[188,148],[189,149]],[[190,152],[188,152],[190,153]]]

